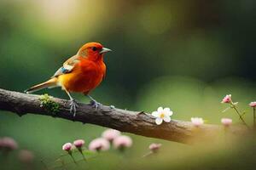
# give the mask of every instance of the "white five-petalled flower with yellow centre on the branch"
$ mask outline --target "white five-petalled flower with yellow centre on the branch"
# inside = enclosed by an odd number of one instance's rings
[[[159,107],[157,111],[152,112],[152,116],[155,117],[155,123],[157,125],[160,125],[163,120],[165,122],[171,122],[172,111],[168,107],[166,107],[165,109]]]

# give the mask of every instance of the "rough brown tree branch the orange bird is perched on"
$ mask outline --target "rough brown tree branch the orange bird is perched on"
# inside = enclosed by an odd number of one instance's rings
[[[218,125],[203,125],[195,128],[191,122],[172,120],[163,122],[160,126],[154,122],[154,117],[143,111],[125,111],[101,106],[97,111],[90,105],[79,103],[77,115],[69,112],[69,101],[52,98],[59,104],[59,111],[52,114],[43,106],[40,106],[39,95],[22,94],[0,88],[0,110],[12,111],[22,116],[26,113],[35,115],[55,116],[73,122],[92,123],[102,127],[111,127],[121,132],[134,133],[146,137],[166,139],[180,143],[191,143],[194,139],[212,139],[223,127]],[[232,127],[230,131],[235,133],[244,128]],[[200,134],[200,135],[199,135]],[[195,138],[196,137],[196,138]]]

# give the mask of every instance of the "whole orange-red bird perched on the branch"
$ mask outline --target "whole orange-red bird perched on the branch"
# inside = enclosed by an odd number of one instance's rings
[[[70,112],[76,115],[77,102],[70,92],[78,92],[87,95],[96,109],[100,103],[90,97],[91,90],[96,88],[105,77],[106,65],[103,55],[111,49],[103,48],[101,43],[88,42],[79,48],[79,52],[67,59],[61,68],[55,72],[48,81],[28,88],[25,92],[30,94],[43,88],[61,87],[70,98]]]

